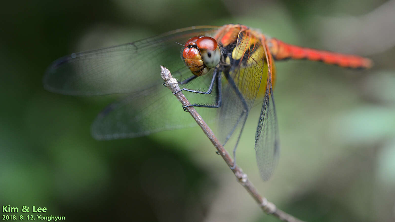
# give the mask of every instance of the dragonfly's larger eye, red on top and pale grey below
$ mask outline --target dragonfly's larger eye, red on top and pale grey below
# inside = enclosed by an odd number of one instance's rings
[[[217,41],[205,36],[196,40],[196,45],[199,48],[201,59],[208,68],[214,68],[220,63],[221,51]]]

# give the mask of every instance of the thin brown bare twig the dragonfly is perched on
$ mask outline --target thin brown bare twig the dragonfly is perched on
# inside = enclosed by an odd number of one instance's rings
[[[160,66],[160,75],[162,76],[162,79],[165,81],[165,86],[175,93],[175,96],[177,99],[182,103],[182,106],[187,106],[191,105],[189,101],[185,98],[184,94],[182,92],[179,92],[180,87],[178,85],[178,82],[176,79],[174,79],[171,76],[171,73],[169,70],[167,70],[166,67]],[[178,92],[178,93],[176,93]],[[186,107],[186,110],[192,115],[192,117],[196,120],[200,128],[203,130],[204,134],[209,137],[211,143],[213,143],[214,147],[217,149],[218,153],[222,156],[222,158],[225,160],[226,164],[228,164],[229,168],[233,171],[235,176],[237,177],[237,180],[239,183],[244,186],[244,188],[247,190],[247,192],[252,196],[252,198],[255,199],[255,201],[259,204],[261,209],[267,213],[267,214],[272,214],[276,217],[278,217],[280,220],[288,221],[288,222],[300,222],[302,220],[298,220],[297,218],[293,217],[290,214],[285,213],[284,211],[281,211],[276,207],[274,203],[271,203],[267,201],[266,198],[263,198],[254,185],[248,180],[247,175],[243,172],[243,170],[239,166],[233,166],[233,159],[229,155],[228,151],[222,146],[222,144],[218,141],[216,136],[214,135],[213,131],[207,126],[205,121],[201,118],[198,112],[196,112],[195,108],[193,106],[188,106]]]

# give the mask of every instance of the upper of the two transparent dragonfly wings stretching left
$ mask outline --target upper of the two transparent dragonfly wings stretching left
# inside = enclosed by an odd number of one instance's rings
[[[181,46],[175,42],[212,36],[216,30],[216,26],[192,26],[133,43],[73,53],[49,66],[43,84],[52,92],[88,96],[144,90],[162,83],[160,65],[176,78],[187,73],[180,58]]]

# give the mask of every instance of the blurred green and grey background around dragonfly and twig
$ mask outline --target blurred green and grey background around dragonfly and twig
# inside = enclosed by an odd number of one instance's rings
[[[90,124],[109,101],[41,85],[53,60],[76,51],[241,23],[375,63],[362,71],[276,63],[275,174],[260,180],[256,119],[237,152],[261,194],[307,221],[395,220],[394,0],[41,0],[1,8],[0,205],[47,207],[67,221],[278,221],[261,212],[199,128],[95,141]]]

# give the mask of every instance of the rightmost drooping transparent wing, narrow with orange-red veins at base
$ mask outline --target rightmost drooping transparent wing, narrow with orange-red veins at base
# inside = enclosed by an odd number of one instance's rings
[[[265,56],[269,69],[267,71],[266,92],[255,135],[256,161],[263,181],[269,180],[277,165],[280,153],[278,140],[278,123],[273,97],[272,77],[274,76],[273,58],[265,45]]]

